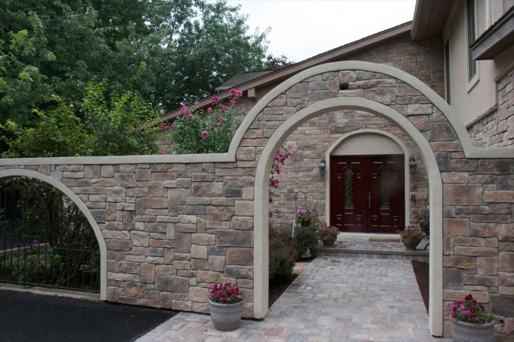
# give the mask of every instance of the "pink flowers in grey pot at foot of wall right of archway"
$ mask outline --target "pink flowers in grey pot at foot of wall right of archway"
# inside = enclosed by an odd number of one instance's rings
[[[484,307],[469,294],[463,300],[448,305],[450,327],[455,342],[493,342],[495,320],[503,319],[485,312]]]

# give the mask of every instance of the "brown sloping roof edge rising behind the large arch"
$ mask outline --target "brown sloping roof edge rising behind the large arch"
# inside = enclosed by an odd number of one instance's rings
[[[252,90],[252,89],[254,90],[255,88],[261,88],[261,87],[264,87],[269,84],[278,83],[278,82],[288,79],[292,75],[297,74],[298,72],[300,72],[302,70],[305,70],[305,69],[311,68],[313,66],[323,64],[323,63],[340,61],[345,56],[349,56],[349,55],[359,52],[361,50],[369,49],[370,47],[372,47],[374,45],[383,43],[384,41],[393,39],[394,37],[397,37],[399,35],[408,34],[411,31],[411,28],[412,28],[412,22],[400,24],[400,25],[397,25],[390,29],[374,33],[374,34],[364,37],[360,40],[357,40],[355,42],[348,43],[348,44],[342,45],[338,48],[317,54],[311,58],[308,58],[304,61],[292,64],[285,68],[266,73],[259,78],[252,79],[252,80],[246,81],[241,84],[236,84],[232,87],[237,86],[237,90],[247,92],[248,90]],[[223,91],[218,92],[217,94],[213,94],[213,95],[215,95],[222,101],[225,99],[228,99],[231,96],[230,91],[228,89],[223,90]],[[207,98],[199,100],[198,102],[196,102],[194,104],[194,106],[196,108],[204,108],[204,107],[211,105],[211,103],[212,103],[211,96],[209,96]],[[193,106],[193,104],[191,104],[190,106]],[[179,108],[177,108],[173,111],[170,111],[168,113],[164,113],[160,117],[160,121],[170,120],[178,115],[180,115]]]

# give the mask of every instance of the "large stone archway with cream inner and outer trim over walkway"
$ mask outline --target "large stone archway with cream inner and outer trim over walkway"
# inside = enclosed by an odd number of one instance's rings
[[[350,79],[353,88],[339,90],[341,78],[343,81]],[[397,97],[402,98],[401,104]],[[301,106],[298,99],[302,100]],[[267,180],[274,153],[303,122],[325,112],[344,109],[387,118],[421,151],[429,178],[431,217],[429,328],[432,335],[440,336],[443,334],[443,301],[451,299],[445,298],[443,291],[443,205],[482,203],[482,189],[474,184],[459,181],[460,184],[449,184],[444,189],[441,172],[469,172],[473,169],[463,166],[468,164],[469,158],[508,158],[509,153],[502,149],[473,148],[453,110],[432,89],[399,69],[367,62],[325,64],[283,82],[253,107],[232,141],[233,153],[241,152],[245,146],[263,146],[254,183],[254,317],[264,317],[267,311]],[[268,126],[267,116],[270,120],[280,116],[282,120],[278,120],[280,124],[276,126]],[[269,140],[264,139],[266,128],[272,131]],[[447,183],[453,182],[446,179]],[[475,193],[471,194],[473,191]],[[480,198],[473,199],[473,203],[461,201],[456,198],[456,192],[471,196],[480,193]]]

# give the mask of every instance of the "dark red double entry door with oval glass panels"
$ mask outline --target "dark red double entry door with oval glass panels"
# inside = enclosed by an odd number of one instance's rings
[[[403,228],[403,155],[332,156],[330,223],[341,232],[395,233]]]

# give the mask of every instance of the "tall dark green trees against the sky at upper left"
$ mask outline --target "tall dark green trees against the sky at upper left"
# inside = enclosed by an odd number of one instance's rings
[[[170,111],[263,68],[266,32],[248,34],[246,17],[223,1],[0,0],[0,8],[2,124],[32,126],[59,108],[53,94],[80,116],[95,77],[107,103],[130,92]]]

